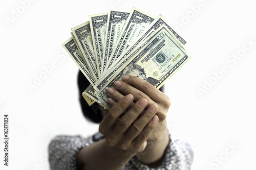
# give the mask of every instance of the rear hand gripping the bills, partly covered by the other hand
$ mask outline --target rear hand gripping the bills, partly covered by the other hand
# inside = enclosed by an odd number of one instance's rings
[[[136,76],[124,76],[122,81],[116,81],[114,88],[109,88],[106,92],[115,102],[121,100],[123,94],[131,93],[135,102],[144,98],[147,100],[147,107],[153,104],[157,105],[158,111],[156,115],[159,117],[159,123],[148,140],[161,140],[161,136],[167,133],[165,118],[170,107],[170,100],[167,95],[156,87]]]

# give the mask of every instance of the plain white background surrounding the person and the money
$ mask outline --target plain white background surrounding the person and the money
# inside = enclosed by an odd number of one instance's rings
[[[71,28],[89,20],[88,15],[130,11],[133,6],[162,14],[187,41],[191,60],[165,87],[172,101],[168,127],[173,138],[192,145],[192,169],[255,169],[253,1],[205,0],[200,9],[196,8],[199,0],[37,0],[29,1],[27,8],[24,1],[0,4],[1,169],[49,169],[47,148],[55,135],[88,136],[98,130],[82,116],[78,68],[61,43],[70,38]],[[234,60],[232,55],[241,57]],[[44,80],[36,81],[52,62],[57,66]],[[222,67],[227,71],[220,74]],[[29,83],[34,84],[32,89]],[[3,165],[4,114],[9,115],[10,128],[8,167]]]

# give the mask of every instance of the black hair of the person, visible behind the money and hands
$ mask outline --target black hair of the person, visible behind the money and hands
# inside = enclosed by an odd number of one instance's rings
[[[86,100],[83,99],[82,92],[87,89],[90,82],[79,70],[78,72],[78,89],[79,89],[79,101],[82,109],[83,116],[90,122],[99,124],[102,120],[102,115],[100,111],[100,106],[95,102],[93,105],[89,106]],[[160,91],[164,92],[164,86],[162,86]]]

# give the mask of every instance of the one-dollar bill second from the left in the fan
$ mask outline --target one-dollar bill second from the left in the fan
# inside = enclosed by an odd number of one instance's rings
[[[86,61],[88,68],[92,72],[92,76],[94,77],[94,80],[98,80],[99,77],[98,77],[96,60],[95,60],[94,52],[92,51],[93,48],[90,43],[90,41],[92,41],[92,37],[91,37],[89,21],[82,23],[81,25],[74,27],[71,30],[75,37],[75,41],[77,42],[77,45],[81,51],[81,54],[84,58],[84,61]]]

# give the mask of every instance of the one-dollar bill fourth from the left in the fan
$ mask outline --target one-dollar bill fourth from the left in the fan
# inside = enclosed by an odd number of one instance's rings
[[[108,15],[108,23],[106,24],[106,35],[104,42],[104,50],[102,57],[101,74],[105,70],[108,58],[110,58],[116,41],[118,40],[122,28],[125,24],[126,19],[129,16],[129,12],[110,11]]]

